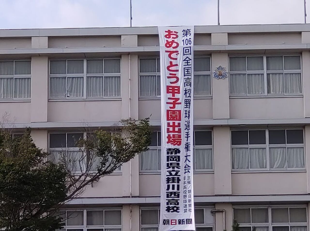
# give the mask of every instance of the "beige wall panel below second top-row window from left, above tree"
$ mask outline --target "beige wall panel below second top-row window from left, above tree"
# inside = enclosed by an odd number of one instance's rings
[[[121,111],[121,100],[47,103],[48,122],[119,121],[121,119]]]

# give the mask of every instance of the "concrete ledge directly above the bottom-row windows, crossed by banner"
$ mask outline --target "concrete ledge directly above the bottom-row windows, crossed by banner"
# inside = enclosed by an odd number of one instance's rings
[[[309,202],[310,195],[264,195],[264,196],[206,196],[194,197],[195,203],[218,202]],[[79,204],[159,204],[159,197],[138,198],[78,198],[68,202],[69,205]]]

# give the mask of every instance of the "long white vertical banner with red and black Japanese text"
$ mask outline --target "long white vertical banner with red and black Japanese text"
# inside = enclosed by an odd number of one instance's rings
[[[161,74],[159,231],[195,230],[193,193],[193,26],[158,27]]]

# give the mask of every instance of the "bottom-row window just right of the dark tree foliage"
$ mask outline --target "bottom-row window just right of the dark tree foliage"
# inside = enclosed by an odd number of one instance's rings
[[[121,210],[59,211],[55,215],[64,218],[61,231],[122,231]]]

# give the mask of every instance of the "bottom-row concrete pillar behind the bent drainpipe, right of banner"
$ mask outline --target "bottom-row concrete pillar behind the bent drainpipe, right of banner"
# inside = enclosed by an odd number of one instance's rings
[[[226,230],[232,230],[232,204],[230,203],[216,203],[215,209],[224,209],[226,215]],[[222,231],[224,229],[223,212],[215,213],[215,230]]]

